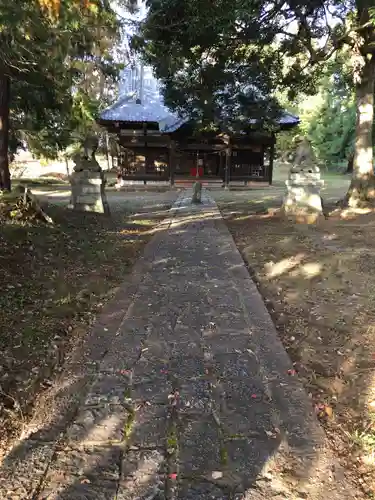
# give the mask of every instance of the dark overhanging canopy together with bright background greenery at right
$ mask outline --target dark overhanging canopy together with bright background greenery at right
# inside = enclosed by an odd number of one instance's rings
[[[153,65],[170,107],[205,128],[233,130],[249,118],[267,124],[280,105],[294,106],[302,125],[279,136],[282,155],[305,135],[322,163],[347,158],[356,133],[354,88],[371,73],[373,0],[148,6],[133,46]]]

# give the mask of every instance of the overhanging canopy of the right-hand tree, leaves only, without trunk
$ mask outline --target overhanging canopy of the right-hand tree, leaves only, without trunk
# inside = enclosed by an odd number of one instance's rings
[[[208,128],[234,129],[249,119],[273,121],[276,91],[289,99],[316,92],[324,62],[344,43],[354,3],[149,0],[148,6],[133,47],[153,65],[167,104]]]

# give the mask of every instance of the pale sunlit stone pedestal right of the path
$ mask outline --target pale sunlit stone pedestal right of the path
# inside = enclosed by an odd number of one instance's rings
[[[283,213],[297,222],[314,223],[323,215],[320,190],[324,181],[315,166],[293,167],[289,172]]]

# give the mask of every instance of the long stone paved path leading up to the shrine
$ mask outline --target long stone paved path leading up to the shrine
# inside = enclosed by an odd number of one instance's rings
[[[190,197],[99,319],[90,348],[112,342],[69,425],[19,443],[1,499],[357,497],[215,203]]]

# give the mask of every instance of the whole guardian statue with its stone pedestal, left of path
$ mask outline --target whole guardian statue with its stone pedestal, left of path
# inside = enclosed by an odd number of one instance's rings
[[[69,208],[82,212],[109,213],[104,173],[95,158],[97,149],[97,138],[88,137],[83,143],[83,152],[73,157],[75,167],[70,176],[72,196]]]

